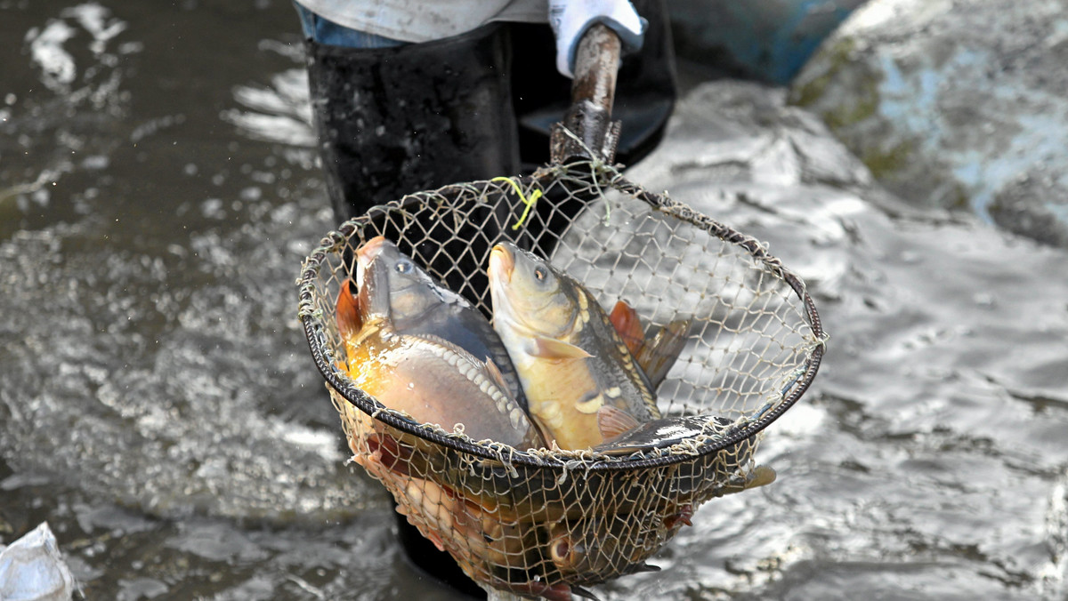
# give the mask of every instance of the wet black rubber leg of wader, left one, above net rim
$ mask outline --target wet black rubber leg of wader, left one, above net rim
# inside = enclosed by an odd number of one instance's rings
[[[519,173],[506,27],[395,48],[309,39],[307,49],[339,222],[410,192]]]

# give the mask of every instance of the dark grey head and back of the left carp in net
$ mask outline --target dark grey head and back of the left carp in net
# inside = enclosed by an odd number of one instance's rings
[[[390,266],[390,318],[400,334],[445,339],[482,361],[492,361],[516,402],[527,411],[527,396],[508,351],[489,320],[462,296],[450,290],[384,236],[376,236],[357,251],[357,269],[374,258]]]

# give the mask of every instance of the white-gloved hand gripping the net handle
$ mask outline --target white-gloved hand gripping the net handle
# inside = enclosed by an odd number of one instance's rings
[[[641,49],[647,22],[627,0],[549,0],[549,25],[556,34],[556,70],[575,77],[579,39],[598,22],[615,31],[624,51]]]

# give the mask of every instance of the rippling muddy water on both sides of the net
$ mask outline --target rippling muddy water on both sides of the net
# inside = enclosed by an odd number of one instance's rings
[[[345,465],[295,318],[332,226],[296,25],[0,0],[0,539],[48,520],[89,598],[457,598]],[[629,175],[768,240],[830,352],[779,481],[598,594],[1063,598],[1068,255],[900,208],[781,100],[698,88]]]

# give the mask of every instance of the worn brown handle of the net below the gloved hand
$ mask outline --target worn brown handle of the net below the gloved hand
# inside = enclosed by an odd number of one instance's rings
[[[582,35],[575,54],[571,107],[563,123],[553,124],[549,143],[552,162],[574,159],[611,164],[619,142],[619,122],[612,121],[615,82],[619,69],[619,36],[603,23]],[[574,137],[561,131],[568,129]],[[577,140],[576,140],[577,138]]]

